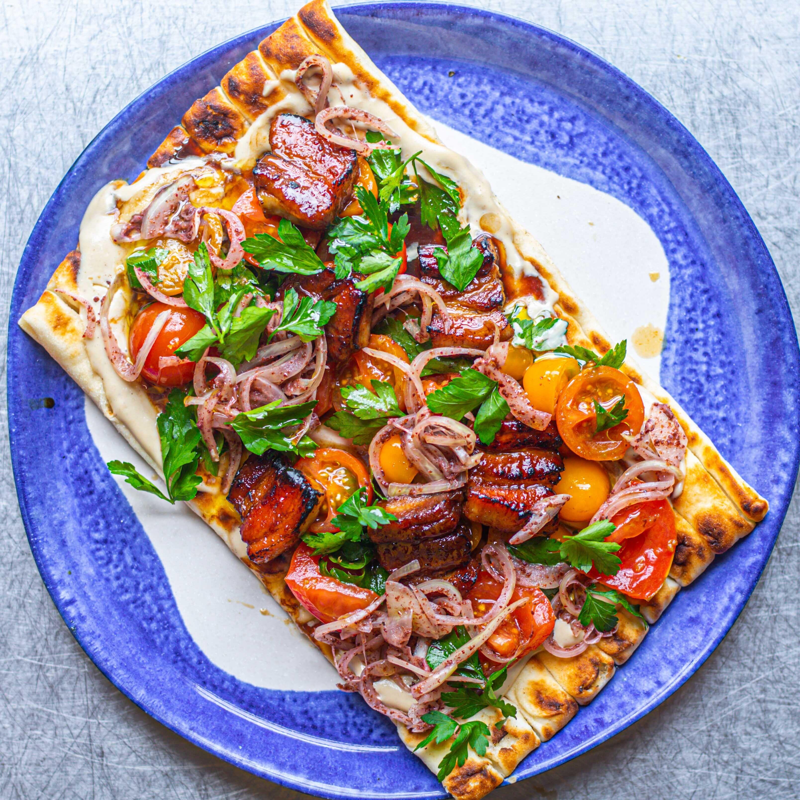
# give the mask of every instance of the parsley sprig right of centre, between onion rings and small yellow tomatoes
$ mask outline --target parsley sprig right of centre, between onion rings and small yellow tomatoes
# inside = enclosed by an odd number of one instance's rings
[[[471,368],[462,370],[458,378],[431,392],[426,402],[434,414],[443,414],[456,420],[477,408],[474,430],[484,444],[494,442],[502,421],[509,413],[508,403],[500,394],[498,382]]]

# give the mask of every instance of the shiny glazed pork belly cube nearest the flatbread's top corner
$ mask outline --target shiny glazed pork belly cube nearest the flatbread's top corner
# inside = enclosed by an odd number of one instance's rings
[[[313,122],[297,114],[274,118],[270,147],[253,170],[264,210],[324,230],[352,198],[355,150],[328,142]]]

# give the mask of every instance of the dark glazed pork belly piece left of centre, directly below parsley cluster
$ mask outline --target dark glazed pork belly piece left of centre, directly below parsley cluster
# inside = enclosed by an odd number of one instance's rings
[[[337,280],[334,270],[322,270],[316,275],[290,275],[283,282],[278,298],[288,289],[302,297],[322,298],[336,303],[336,314],[325,326],[328,344],[328,363],[337,368],[345,364],[356,350],[370,341],[372,297],[356,289],[353,278]]]

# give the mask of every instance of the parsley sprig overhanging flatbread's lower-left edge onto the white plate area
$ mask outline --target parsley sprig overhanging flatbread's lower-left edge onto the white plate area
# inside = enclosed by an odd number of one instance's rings
[[[201,434],[194,421],[193,412],[183,405],[184,394],[174,389],[156,426],[161,439],[163,473],[166,494],[153,482],[145,478],[130,462],[110,461],[108,469],[115,475],[122,475],[126,483],[134,489],[149,492],[173,505],[178,500],[191,500],[198,493],[202,478],[195,474],[198,469],[198,445]]]

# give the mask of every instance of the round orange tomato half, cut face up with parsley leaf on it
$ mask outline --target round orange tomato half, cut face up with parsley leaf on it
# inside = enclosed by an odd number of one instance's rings
[[[594,401],[611,410],[625,401],[627,417],[608,430],[597,430]],[[558,396],[555,410],[558,433],[567,447],[590,461],[616,461],[625,455],[628,443],[622,434],[636,435],[642,430],[645,407],[636,384],[613,366],[594,366],[582,370]]]

